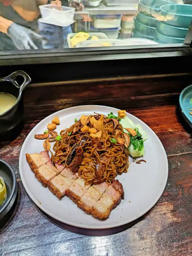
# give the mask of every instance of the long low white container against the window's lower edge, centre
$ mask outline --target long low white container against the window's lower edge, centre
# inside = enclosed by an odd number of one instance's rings
[[[126,46],[128,45],[126,41],[124,40],[113,40],[113,39],[105,39],[105,40],[86,40],[83,42],[80,42],[76,48],[80,47],[112,47],[112,46]]]

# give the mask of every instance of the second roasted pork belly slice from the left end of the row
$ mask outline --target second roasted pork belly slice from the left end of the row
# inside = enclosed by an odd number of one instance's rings
[[[47,187],[48,182],[57,174],[55,170],[55,167],[51,167],[50,164],[45,164],[38,168],[35,176],[44,187]]]

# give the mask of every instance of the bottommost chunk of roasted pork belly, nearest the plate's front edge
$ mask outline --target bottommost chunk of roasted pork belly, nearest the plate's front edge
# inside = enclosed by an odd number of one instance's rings
[[[93,206],[91,214],[98,219],[106,219],[113,209],[113,204],[114,202],[110,195],[102,196]]]

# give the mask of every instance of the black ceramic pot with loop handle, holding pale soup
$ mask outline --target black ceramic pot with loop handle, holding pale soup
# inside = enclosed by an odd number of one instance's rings
[[[16,81],[17,76],[22,76],[24,78],[21,85]],[[22,121],[23,90],[30,82],[30,76],[28,76],[24,71],[16,71],[10,74],[10,76],[0,78],[0,92],[12,94],[17,98],[15,105],[0,115],[0,136],[13,130]]]

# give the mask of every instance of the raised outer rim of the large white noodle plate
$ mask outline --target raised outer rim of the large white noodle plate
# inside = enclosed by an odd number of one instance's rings
[[[45,118],[43,118],[43,120],[41,120],[38,124],[36,124],[33,129],[35,129],[35,127],[38,127],[40,126],[41,123],[43,123],[44,120],[50,118],[50,116],[52,115],[55,115],[57,113],[60,113],[66,109],[74,109],[74,108],[79,108],[79,107],[105,107],[105,108],[111,108],[111,109],[114,109],[115,111],[118,111],[120,109],[118,108],[113,108],[113,107],[110,107],[110,106],[104,106],[104,105],[79,105],[79,106],[73,106],[73,107],[70,107],[70,108],[64,108],[64,109],[61,109],[59,111],[56,111],[48,116],[46,116]],[[21,148],[21,151],[20,151],[20,155],[19,155],[19,173],[20,173],[20,178],[22,180],[22,184],[23,184],[23,187],[26,191],[26,193],[28,194],[28,196],[30,197],[30,199],[35,203],[35,205],[41,209],[41,211],[43,211],[45,214],[47,214],[48,216],[50,216],[51,218],[57,220],[57,221],[60,221],[62,223],[65,223],[67,225],[70,225],[70,226],[73,226],[73,227],[79,227],[79,228],[82,228],[82,229],[92,229],[92,230],[102,230],[102,229],[113,229],[113,228],[116,228],[116,227],[121,227],[121,226],[124,226],[128,223],[131,223],[132,221],[135,221],[136,219],[139,219],[141,216],[143,216],[144,214],[146,214],[150,209],[152,209],[152,207],[158,202],[158,200],[160,199],[161,195],[163,194],[164,190],[165,190],[165,187],[167,185],[167,179],[168,179],[168,173],[169,173],[169,164],[168,164],[168,159],[167,159],[167,154],[166,154],[166,151],[162,145],[162,142],[161,140],[159,139],[159,137],[156,135],[156,133],[146,124],[144,123],[142,120],[140,120],[139,118],[137,118],[136,116],[130,114],[130,113],[127,113],[126,114],[136,118],[137,120],[139,120],[141,123],[143,123],[144,125],[147,126],[147,128],[149,128],[152,133],[154,134],[154,136],[156,136],[157,140],[159,141],[160,143],[160,146],[162,148],[162,152],[163,152],[163,155],[164,155],[164,158],[165,158],[165,164],[166,164],[166,175],[165,175],[165,182],[162,186],[162,192],[160,195],[158,195],[156,197],[156,199],[149,205],[149,207],[147,207],[147,209],[145,209],[144,211],[140,212],[136,217],[133,217],[131,220],[129,221],[124,221],[124,222],[121,222],[121,224],[113,224],[113,225],[110,225],[110,227],[106,226],[106,227],[95,227],[95,226],[89,226],[89,227],[86,227],[86,226],[83,226],[81,224],[75,224],[73,222],[70,222],[70,221],[63,221],[61,220],[59,217],[57,216],[54,216],[53,214],[51,214],[49,211],[47,211],[45,209],[45,207],[43,207],[42,205],[38,204],[38,201],[33,197],[33,195],[31,194],[30,190],[28,189],[26,183],[25,183],[25,180],[24,180],[24,175],[22,173],[22,161],[21,161],[21,158],[22,158],[22,155],[23,155],[23,150],[24,150],[24,147],[25,147],[25,144],[26,144],[26,141],[27,139],[30,137],[33,129],[30,131],[30,133],[26,136],[25,138],[25,141],[23,142],[23,145],[22,145],[22,148]]]

